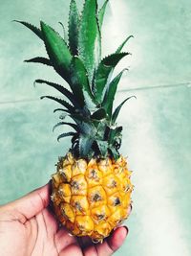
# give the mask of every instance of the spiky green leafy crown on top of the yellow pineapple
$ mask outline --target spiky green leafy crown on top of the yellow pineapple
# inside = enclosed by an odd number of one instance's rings
[[[57,139],[72,136],[71,151],[75,157],[90,159],[94,156],[109,156],[117,160],[122,137],[122,127],[117,127],[116,123],[117,116],[122,105],[132,98],[124,100],[113,111],[117,85],[126,69],[116,78],[111,77],[117,63],[129,55],[128,52],[121,51],[133,35],[125,38],[114,54],[101,58],[101,27],[108,1],[98,10],[96,0],[85,0],[79,15],[75,0],[72,0],[68,36],[64,37],[43,21],[40,22],[39,29],[28,22],[14,20],[26,26],[44,42],[49,57],[25,61],[52,66],[70,86],[68,90],[51,81],[34,81],[52,86],[67,99],[41,97],[62,105],[61,108],[54,109],[54,112],[62,111],[65,117],[69,116],[73,120],[73,123],[61,120],[54,128],[67,125],[74,129],[62,133]],[[61,22],[60,24],[63,26]],[[60,119],[64,119],[63,115]]]

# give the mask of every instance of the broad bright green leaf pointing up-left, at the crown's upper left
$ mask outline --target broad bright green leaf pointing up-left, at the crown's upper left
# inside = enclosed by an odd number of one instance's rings
[[[55,71],[66,81],[69,79],[72,55],[64,39],[49,25],[41,21],[41,29],[44,37],[47,53]]]

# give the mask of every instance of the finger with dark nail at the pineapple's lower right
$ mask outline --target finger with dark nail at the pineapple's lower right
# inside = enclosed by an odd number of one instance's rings
[[[97,255],[110,256],[112,255],[124,242],[128,234],[126,226],[118,227],[111,237],[106,239],[103,244],[96,244]],[[87,254],[88,256],[88,254]]]

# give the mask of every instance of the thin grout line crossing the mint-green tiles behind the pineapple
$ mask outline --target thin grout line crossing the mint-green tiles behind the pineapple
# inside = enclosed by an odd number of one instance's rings
[[[177,88],[177,87],[191,88],[191,81],[181,82],[176,84],[172,83],[172,84],[163,84],[163,85],[156,85],[156,86],[136,87],[136,88],[118,90],[118,92],[145,91],[145,90],[167,89],[167,88]],[[4,101],[4,102],[0,101],[0,105],[31,103],[31,102],[38,102],[38,101],[40,101],[40,99],[24,99],[24,100]]]

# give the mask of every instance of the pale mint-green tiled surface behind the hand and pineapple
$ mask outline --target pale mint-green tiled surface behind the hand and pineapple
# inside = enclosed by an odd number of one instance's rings
[[[100,1],[99,3],[103,3]],[[78,1],[81,8],[82,2]],[[45,184],[69,140],[52,132],[57,95],[35,79],[61,81],[49,67],[22,61],[45,56],[35,35],[12,19],[38,25],[42,19],[62,33],[69,1],[0,1],[0,203]],[[55,15],[56,13],[56,15]],[[126,35],[133,55],[117,94],[121,111],[121,152],[134,170],[134,209],[129,238],[116,255],[191,255],[191,2],[189,0],[111,0],[103,27],[103,52],[113,52]],[[62,82],[62,81],[61,81]]]

